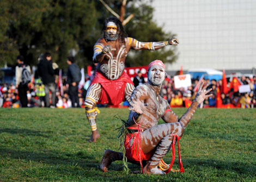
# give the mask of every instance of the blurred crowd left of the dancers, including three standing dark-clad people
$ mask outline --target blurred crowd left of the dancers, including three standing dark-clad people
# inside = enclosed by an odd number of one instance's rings
[[[80,108],[84,104],[86,89],[79,85],[80,68],[73,57],[68,57],[68,71],[63,78],[58,65],[51,60],[50,53],[39,57],[38,78],[34,78],[31,68],[25,64],[23,57],[17,57],[15,67],[16,85],[0,84],[0,107],[50,107]],[[85,78],[84,82],[89,78]]]

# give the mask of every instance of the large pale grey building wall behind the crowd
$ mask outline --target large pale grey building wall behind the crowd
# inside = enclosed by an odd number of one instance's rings
[[[255,73],[255,0],[155,0],[154,20],[180,40],[179,58],[167,65]],[[253,69],[254,68],[254,69]]]

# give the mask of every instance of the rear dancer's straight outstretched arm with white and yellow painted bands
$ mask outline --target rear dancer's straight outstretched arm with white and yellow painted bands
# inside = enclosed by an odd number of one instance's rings
[[[140,41],[137,41],[136,39],[128,37],[127,43],[131,46],[131,48],[135,50],[157,50],[167,45],[176,46],[179,44],[179,40],[176,38],[171,38],[168,41],[162,41],[162,42],[140,42]]]

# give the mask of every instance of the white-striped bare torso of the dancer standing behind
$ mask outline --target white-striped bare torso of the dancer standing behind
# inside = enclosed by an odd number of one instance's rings
[[[95,45],[101,47],[110,45],[112,49],[115,49],[105,55],[103,60],[97,64],[96,69],[110,80],[118,79],[124,71],[125,59],[130,51],[130,46],[127,44],[121,45],[118,40],[106,42],[103,38],[97,41]]]

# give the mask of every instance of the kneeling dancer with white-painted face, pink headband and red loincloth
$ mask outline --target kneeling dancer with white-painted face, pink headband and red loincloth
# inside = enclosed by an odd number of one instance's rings
[[[166,77],[163,62],[150,62],[147,76],[148,82],[137,86],[132,92],[129,119],[122,127],[125,134],[123,146],[127,161],[141,164],[144,173],[164,174],[158,168],[161,159],[172,143],[174,147],[175,139],[179,140],[183,135],[198,105],[211,96],[206,95],[211,89],[206,91],[208,85],[202,88],[202,83],[191,106],[178,118],[168,102],[159,95]],[[160,118],[166,123],[157,125]],[[105,150],[100,164],[101,170],[107,172],[107,167],[115,160],[123,160],[123,153]],[[183,167],[180,171],[184,171]]]

